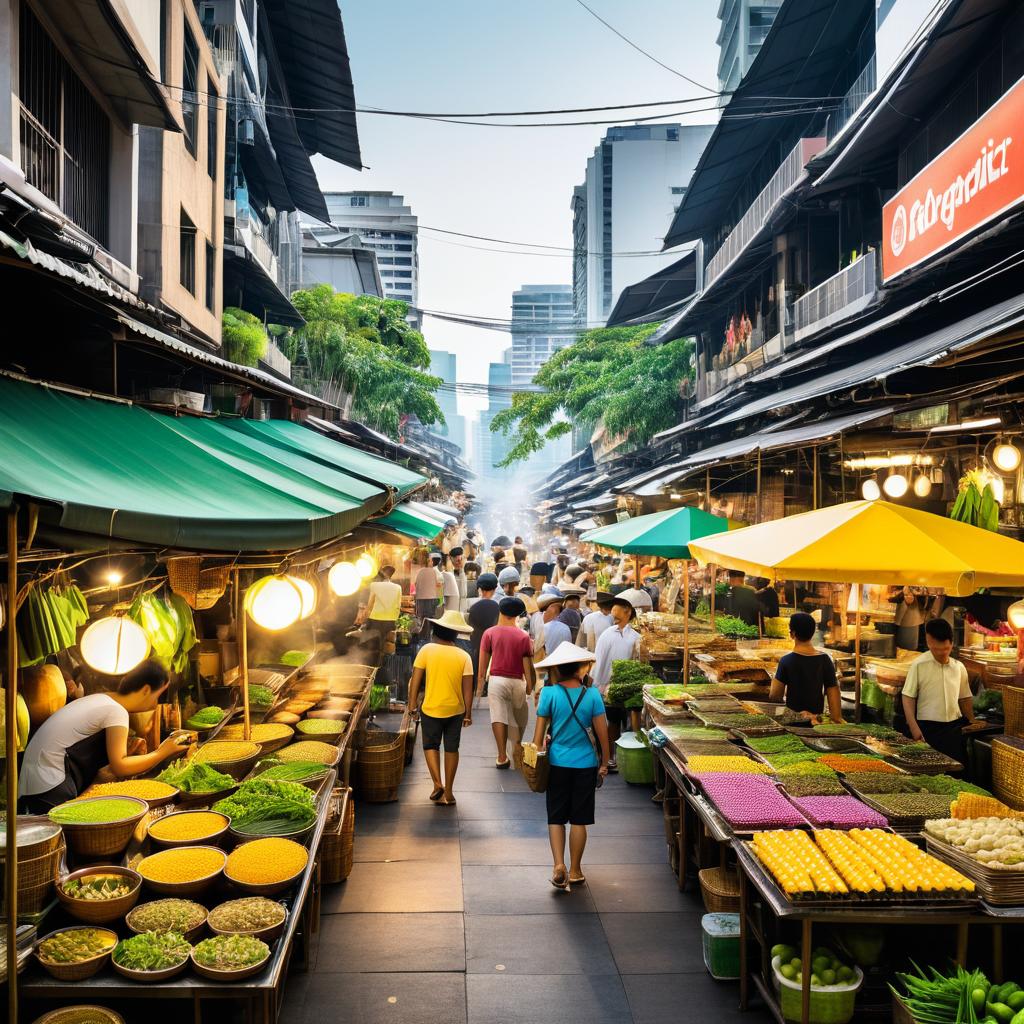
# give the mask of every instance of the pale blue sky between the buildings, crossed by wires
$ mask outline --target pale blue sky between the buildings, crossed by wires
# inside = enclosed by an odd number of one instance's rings
[[[717,88],[719,0],[587,4],[670,68]],[[701,95],[696,86],[632,49],[578,0],[341,0],[341,11],[359,106],[468,113]],[[712,103],[678,110],[687,105]],[[662,111],[676,108],[627,113]],[[367,169],[356,172],[316,158],[325,190],[390,190],[406,197],[421,225],[549,246],[571,246],[572,188],[583,181],[587,158],[610,127],[496,128],[357,117]],[[715,117],[707,111],[664,120],[710,124]],[[487,247],[499,248],[421,231],[420,305],[507,318],[512,292],[521,285],[572,281],[568,253],[522,255]],[[485,383],[487,364],[511,343],[508,334],[429,317],[424,334],[430,348],[456,353],[461,381]],[[484,399],[460,396],[463,414],[483,404]]]

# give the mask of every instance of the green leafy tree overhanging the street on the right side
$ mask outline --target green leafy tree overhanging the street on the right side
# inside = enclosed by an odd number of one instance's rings
[[[678,338],[645,345],[657,325],[586,331],[544,364],[541,391],[520,391],[490,429],[513,435],[502,466],[528,459],[567,434],[572,422],[602,423],[613,437],[645,444],[679,421],[684,382],[693,378],[693,343]]]

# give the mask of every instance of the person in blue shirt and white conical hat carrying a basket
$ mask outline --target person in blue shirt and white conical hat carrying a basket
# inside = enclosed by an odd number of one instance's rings
[[[610,750],[604,701],[590,685],[588,672],[594,655],[585,647],[561,643],[553,654],[537,664],[549,669],[548,685],[537,708],[534,743],[538,750],[548,739],[548,838],[554,859],[551,884],[568,890],[583,885],[583,851],[587,825],[594,823],[594,795],[598,779],[608,773]],[[591,737],[593,730],[596,740]],[[600,756],[598,750],[600,748]],[[569,829],[569,866],[565,866],[565,825]]]

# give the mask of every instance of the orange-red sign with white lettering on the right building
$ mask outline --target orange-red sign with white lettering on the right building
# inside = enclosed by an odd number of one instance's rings
[[[1024,79],[882,210],[882,279],[925,262],[1024,199]],[[1020,159],[1017,159],[1017,158]]]

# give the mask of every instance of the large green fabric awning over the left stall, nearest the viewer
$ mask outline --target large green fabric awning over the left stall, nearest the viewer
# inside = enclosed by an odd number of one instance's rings
[[[0,377],[0,505],[18,496],[41,529],[202,551],[330,541],[388,497],[220,421]]]

